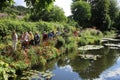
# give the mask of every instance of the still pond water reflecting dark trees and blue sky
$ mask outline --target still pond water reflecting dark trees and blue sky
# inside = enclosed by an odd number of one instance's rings
[[[94,54],[102,57],[97,60],[82,59],[77,54]],[[64,54],[48,62],[42,70],[51,71],[51,80],[119,80],[120,50],[102,48]],[[37,68],[41,70],[41,68]]]

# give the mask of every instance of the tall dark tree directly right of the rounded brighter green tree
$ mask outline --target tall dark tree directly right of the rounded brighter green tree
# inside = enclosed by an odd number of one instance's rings
[[[109,16],[109,0],[89,0],[92,6],[92,25],[100,30],[107,30],[111,26]]]

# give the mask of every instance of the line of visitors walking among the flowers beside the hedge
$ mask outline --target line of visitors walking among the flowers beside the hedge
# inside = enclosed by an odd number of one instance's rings
[[[47,33],[46,31],[43,31],[42,38],[41,38],[38,32],[35,32],[35,34],[33,34],[32,31],[29,31],[29,32],[23,32],[18,37],[16,31],[14,30],[12,33],[12,46],[13,46],[13,49],[16,50],[17,43],[19,40],[21,43],[21,48],[27,49],[31,45],[37,46],[40,44],[40,42],[46,42],[47,40],[52,40],[55,37],[55,35],[60,35],[60,34],[61,34],[60,31],[57,31],[56,33],[54,31],[50,31],[49,33]]]

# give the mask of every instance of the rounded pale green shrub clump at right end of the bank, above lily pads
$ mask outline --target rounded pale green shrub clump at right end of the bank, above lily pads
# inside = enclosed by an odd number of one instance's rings
[[[86,44],[99,44],[103,34],[95,29],[86,29],[81,32],[81,37],[79,38],[79,45]]]

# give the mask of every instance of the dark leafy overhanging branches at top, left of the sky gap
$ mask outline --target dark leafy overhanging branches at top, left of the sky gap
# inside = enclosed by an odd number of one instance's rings
[[[53,7],[55,0],[24,0],[26,5],[31,9],[30,18],[33,21],[40,20],[43,12],[49,11]]]

